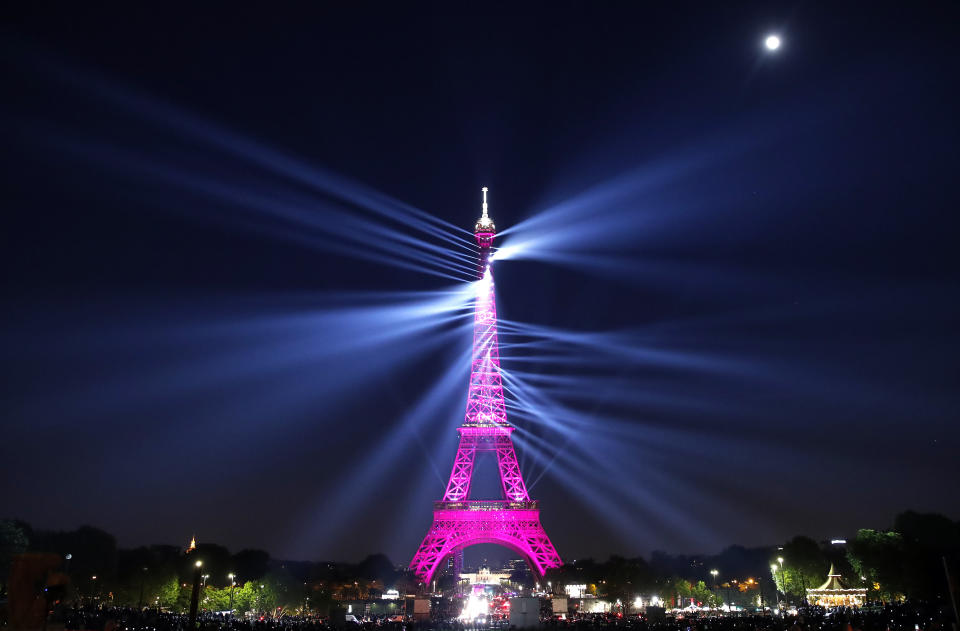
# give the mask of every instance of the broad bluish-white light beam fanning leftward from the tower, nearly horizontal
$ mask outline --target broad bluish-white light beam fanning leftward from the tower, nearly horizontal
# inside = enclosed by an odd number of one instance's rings
[[[237,405],[247,408],[242,410],[244,416],[253,414],[252,397],[263,397],[263,405],[274,406],[272,416],[283,406],[300,406],[321,396],[327,397],[328,406],[348,401],[349,397],[340,396],[344,384],[370,379],[406,358],[447,343],[441,340],[451,339],[449,329],[467,322],[471,294],[471,287],[462,285],[434,295],[368,295],[360,299],[367,304],[359,305],[356,296],[345,295],[328,297],[335,303],[329,308],[319,307],[316,295],[301,296],[286,309],[280,296],[273,296],[262,299],[269,303],[266,309],[260,304],[246,307],[246,312],[231,310],[202,318],[190,314],[186,321],[158,321],[164,313],[158,311],[153,321],[78,324],[63,332],[69,335],[66,343],[51,335],[45,344],[33,347],[33,354],[38,359],[48,356],[53,364],[87,361],[92,356],[114,357],[118,365],[132,362],[133,368],[124,371],[100,371],[89,377],[78,372],[63,386],[77,414],[96,414],[102,422],[110,418],[122,422],[123,414],[145,405],[169,406],[224,388],[239,392]],[[373,299],[378,302],[370,304]],[[369,360],[346,361],[357,354]],[[154,360],[141,364],[136,358],[144,355]],[[289,396],[281,396],[279,390]],[[42,391],[26,391],[22,401],[25,409],[42,410],[46,405]],[[221,408],[225,405],[227,401]],[[38,411],[35,422],[54,423],[57,418]],[[237,431],[256,428],[256,424],[238,425]]]

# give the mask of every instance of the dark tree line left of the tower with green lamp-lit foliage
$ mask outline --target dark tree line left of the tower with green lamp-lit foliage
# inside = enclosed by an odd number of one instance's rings
[[[18,520],[0,520],[0,598],[6,593],[13,558],[52,553],[70,578],[65,596],[82,602],[122,606],[185,607],[194,564],[202,561],[203,602],[207,609],[230,606],[261,611],[324,611],[338,598],[379,595],[385,588],[416,587],[383,554],[359,563],[297,562],[271,559],[264,550],[231,553],[215,543],[185,548],[151,545],[118,548],[109,533],[91,526],[71,531],[35,530]],[[227,604],[225,604],[227,603]]]

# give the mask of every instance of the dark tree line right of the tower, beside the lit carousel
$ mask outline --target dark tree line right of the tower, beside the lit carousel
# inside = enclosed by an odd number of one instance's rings
[[[782,546],[734,545],[715,555],[656,551],[649,561],[620,556],[603,562],[578,559],[552,570],[547,580],[555,585],[592,586],[596,593],[624,602],[637,593],[682,592],[696,597],[704,593],[704,587],[751,589],[762,593],[763,598],[775,598],[779,592],[788,600],[800,602],[807,589],[825,582],[832,566],[848,586],[866,588],[872,600],[890,601],[947,597],[945,562],[956,583],[960,522],[943,515],[907,511],[896,517],[891,528],[862,529],[846,545],[800,535]],[[776,571],[771,569],[773,565]],[[747,580],[753,583],[744,585]],[[684,583],[687,587],[678,589]]]

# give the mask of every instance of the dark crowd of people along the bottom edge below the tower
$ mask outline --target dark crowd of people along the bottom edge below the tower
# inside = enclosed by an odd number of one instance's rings
[[[199,613],[200,631],[468,631],[490,628],[489,623],[451,620],[413,621],[396,617],[368,617],[339,623],[318,616],[243,617]],[[188,631],[189,616],[155,609],[75,607],[63,612],[67,631]],[[866,609],[801,609],[796,616],[764,614],[698,614],[666,616],[587,615],[547,620],[546,631],[950,631],[949,607],[904,603]],[[498,625],[507,628],[504,621]]]

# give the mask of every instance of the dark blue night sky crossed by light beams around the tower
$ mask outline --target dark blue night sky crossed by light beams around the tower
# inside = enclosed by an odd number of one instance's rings
[[[408,562],[489,186],[564,558],[960,518],[958,5],[722,5],[6,7],[0,517]]]

